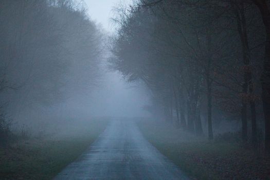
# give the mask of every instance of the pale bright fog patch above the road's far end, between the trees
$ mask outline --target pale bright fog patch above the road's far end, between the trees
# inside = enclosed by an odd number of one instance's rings
[[[93,116],[147,117],[143,110],[149,103],[147,93],[139,84],[127,84],[118,73],[108,72],[103,88],[93,93],[89,110]]]

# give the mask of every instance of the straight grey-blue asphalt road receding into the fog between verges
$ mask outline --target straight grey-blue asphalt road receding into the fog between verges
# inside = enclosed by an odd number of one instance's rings
[[[134,122],[115,120],[55,179],[189,178],[141,135]]]

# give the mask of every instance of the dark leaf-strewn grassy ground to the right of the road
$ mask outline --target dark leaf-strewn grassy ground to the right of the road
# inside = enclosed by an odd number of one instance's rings
[[[270,157],[240,142],[197,138],[164,122],[144,121],[143,136],[194,179],[270,179]]]

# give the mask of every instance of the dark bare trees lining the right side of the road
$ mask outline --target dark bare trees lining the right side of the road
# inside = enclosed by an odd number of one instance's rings
[[[269,1],[140,0],[116,8],[114,22],[110,62],[149,87],[148,111],[210,140],[213,118],[240,119],[242,141],[255,149],[264,122],[270,152]]]

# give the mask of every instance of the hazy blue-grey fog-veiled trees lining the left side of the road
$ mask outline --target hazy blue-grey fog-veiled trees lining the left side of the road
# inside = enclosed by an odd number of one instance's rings
[[[0,140],[8,119],[65,101],[97,81],[103,34],[73,0],[0,2]]]

